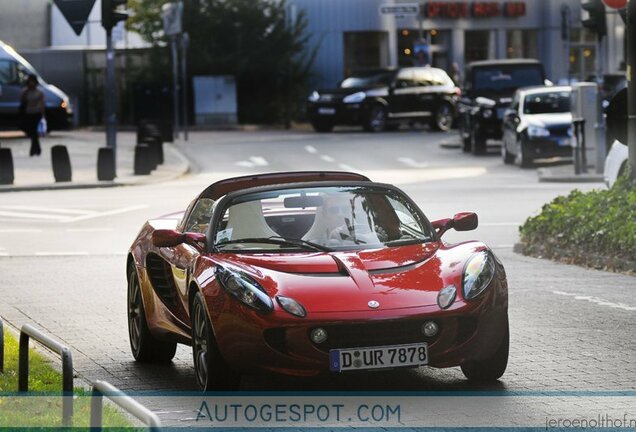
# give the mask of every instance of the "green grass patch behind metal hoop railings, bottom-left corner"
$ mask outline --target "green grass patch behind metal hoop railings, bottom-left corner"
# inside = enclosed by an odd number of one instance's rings
[[[4,373],[0,373],[0,428],[60,428],[62,425],[62,374],[49,359],[31,350],[29,353],[29,395],[16,397],[18,391],[18,341],[4,333]],[[8,393],[8,394],[7,394]],[[90,392],[76,388],[72,430],[88,430]],[[104,399],[105,401],[106,399]],[[134,428],[128,418],[114,407],[104,405],[103,425],[110,430],[144,430]]]

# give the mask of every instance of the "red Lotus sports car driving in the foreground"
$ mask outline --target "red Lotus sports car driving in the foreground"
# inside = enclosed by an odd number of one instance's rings
[[[477,227],[429,222],[394,186],[344,172],[223,180],[185,213],[149,220],[130,248],[128,325],[138,361],[192,346],[203,390],[240,374],[296,376],[508,362],[508,288]]]

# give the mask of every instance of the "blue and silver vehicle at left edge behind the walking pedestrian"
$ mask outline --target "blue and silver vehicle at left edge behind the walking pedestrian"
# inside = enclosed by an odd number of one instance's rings
[[[73,118],[73,109],[68,96],[59,88],[45,82],[24,57],[2,41],[0,41],[0,128],[19,128],[20,98],[30,74],[38,78],[39,89],[44,93],[48,129],[68,129]]]

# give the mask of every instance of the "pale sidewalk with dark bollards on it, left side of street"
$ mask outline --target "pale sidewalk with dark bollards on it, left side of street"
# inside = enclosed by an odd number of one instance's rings
[[[164,163],[150,175],[133,173],[135,132],[117,134],[117,177],[113,181],[97,180],[97,152],[106,142],[104,132],[86,130],[54,131],[40,140],[42,154],[29,156],[30,140],[20,132],[0,132],[0,146],[13,155],[13,185],[0,185],[0,192],[45,189],[101,188],[159,183],[173,180],[190,169],[187,158],[171,143],[164,143]],[[56,183],[51,165],[51,147],[66,146],[71,159],[72,181]]]

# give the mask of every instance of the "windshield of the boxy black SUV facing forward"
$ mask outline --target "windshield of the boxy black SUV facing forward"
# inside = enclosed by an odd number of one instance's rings
[[[538,66],[479,67],[473,73],[473,90],[510,92],[521,87],[543,85],[543,74]]]

